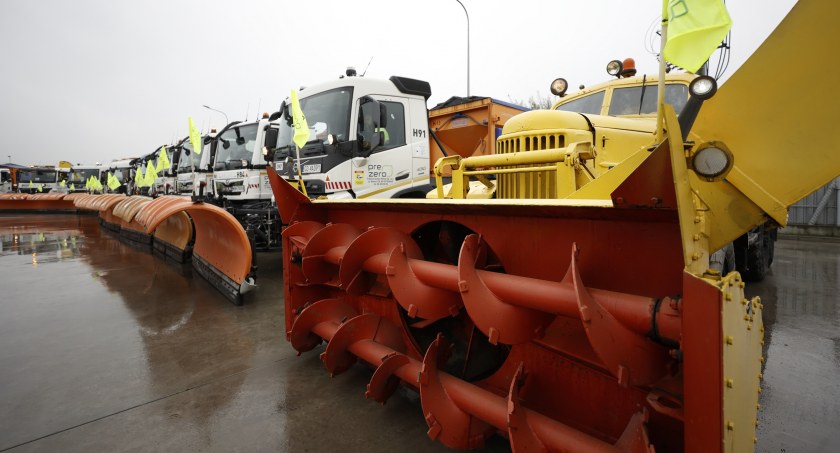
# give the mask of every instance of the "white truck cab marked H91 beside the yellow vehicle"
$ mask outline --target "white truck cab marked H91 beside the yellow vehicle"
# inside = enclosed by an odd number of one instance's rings
[[[313,198],[423,197],[432,188],[429,96],[428,82],[355,77],[350,70],[347,77],[304,88],[300,105],[309,141],[296,149],[284,102],[274,168],[288,180],[301,177]]]

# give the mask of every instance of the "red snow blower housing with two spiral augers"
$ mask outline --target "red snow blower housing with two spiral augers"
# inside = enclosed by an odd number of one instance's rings
[[[616,193],[675,200],[672,184],[650,184],[670,175],[667,146],[650,154]],[[414,387],[430,438],[458,449],[499,433],[514,451],[723,450],[714,326],[724,297],[683,274],[675,203],[310,202],[269,178],[290,221],[292,346],[326,341],[333,375],[356,360],[373,366],[365,394],[375,401],[399,381]],[[744,300],[742,290],[727,297]],[[472,329],[466,349],[445,328],[431,342],[416,335],[453,322]],[[450,359],[481,344],[504,359],[477,377],[453,374]]]

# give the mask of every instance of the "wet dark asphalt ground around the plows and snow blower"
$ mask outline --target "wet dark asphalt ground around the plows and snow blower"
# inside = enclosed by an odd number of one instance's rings
[[[0,216],[0,452],[451,451],[417,395],[364,398],[283,334],[279,254],[242,307],[93,216]],[[840,243],[777,243],[761,452],[840,451]],[[494,438],[487,451],[506,451]]]

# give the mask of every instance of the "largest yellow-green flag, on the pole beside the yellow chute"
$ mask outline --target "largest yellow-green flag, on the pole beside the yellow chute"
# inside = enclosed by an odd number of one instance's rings
[[[731,27],[723,0],[668,0],[665,60],[697,72]]]

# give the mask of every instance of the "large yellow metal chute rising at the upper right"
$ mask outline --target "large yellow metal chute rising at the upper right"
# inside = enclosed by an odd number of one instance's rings
[[[835,18],[840,3],[800,1],[761,47],[703,104],[692,133],[734,155],[731,184],[692,179],[708,204],[710,246],[725,244],[840,175],[833,100],[840,99]],[[732,195],[735,195],[734,198]]]

